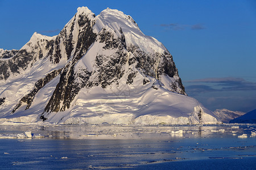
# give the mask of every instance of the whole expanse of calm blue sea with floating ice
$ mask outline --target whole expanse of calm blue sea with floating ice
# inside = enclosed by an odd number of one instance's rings
[[[255,131],[252,124],[0,125],[0,169],[256,169]]]

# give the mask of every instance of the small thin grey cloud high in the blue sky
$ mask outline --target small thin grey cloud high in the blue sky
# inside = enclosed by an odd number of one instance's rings
[[[160,24],[160,27],[164,27],[167,29],[172,29],[172,30],[184,30],[184,29],[192,29],[192,30],[199,30],[199,29],[205,29],[203,24],[178,24],[178,23],[170,23],[170,24]]]

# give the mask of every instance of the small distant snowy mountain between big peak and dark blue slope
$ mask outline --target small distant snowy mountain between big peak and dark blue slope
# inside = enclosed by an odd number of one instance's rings
[[[245,114],[245,112],[229,111],[228,109],[216,109],[213,113],[224,123],[229,123],[230,120]]]

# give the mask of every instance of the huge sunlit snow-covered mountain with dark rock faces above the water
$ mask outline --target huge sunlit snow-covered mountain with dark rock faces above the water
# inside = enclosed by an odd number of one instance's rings
[[[171,54],[129,15],[87,7],[59,35],[0,49],[0,122],[216,124],[185,94]]]

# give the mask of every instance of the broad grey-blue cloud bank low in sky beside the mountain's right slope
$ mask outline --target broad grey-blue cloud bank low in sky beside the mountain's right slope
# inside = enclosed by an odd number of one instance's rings
[[[249,112],[255,109],[256,81],[244,78],[204,78],[184,81],[185,91],[210,110],[230,109]]]

